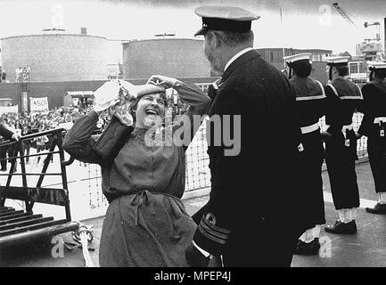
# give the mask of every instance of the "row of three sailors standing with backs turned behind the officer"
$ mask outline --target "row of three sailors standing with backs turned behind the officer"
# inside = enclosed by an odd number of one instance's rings
[[[359,207],[359,191],[355,161],[357,139],[367,136],[367,150],[379,201],[369,213],[386,214],[386,63],[369,62],[370,82],[359,88],[346,79],[348,57],[331,57],[326,72],[329,83],[322,85],[309,77],[311,53],[284,57],[287,74],[296,93],[296,108],[300,118],[302,142],[300,174],[305,190],[305,212],[313,228],[300,236],[296,254],[316,255],[320,248],[321,225],[325,224],[321,168],[325,159],[330,178],[333,204],[339,218],[326,224],[326,232],[353,234]],[[355,111],[364,114],[356,133],[352,126]],[[328,128],[321,132],[319,118],[325,116]],[[322,134],[322,135],[321,135]],[[325,143],[325,151],[324,145]]]

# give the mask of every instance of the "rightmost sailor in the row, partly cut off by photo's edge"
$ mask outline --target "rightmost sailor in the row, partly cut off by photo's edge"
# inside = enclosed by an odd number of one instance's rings
[[[369,63],[370,82],[362,87],[364,118],[358,138],[367,136],[367,151],[379,200],[369,213],[386,214],[386,63]],[[373,78],[373,75],[375,77]]]

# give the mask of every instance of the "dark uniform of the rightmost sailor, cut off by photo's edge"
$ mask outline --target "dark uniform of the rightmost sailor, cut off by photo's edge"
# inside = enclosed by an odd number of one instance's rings
[[[386,191],[386,83],[371,81],[362,87],[364,117],[359,128],[367,136],[367,151],[375,191]]]

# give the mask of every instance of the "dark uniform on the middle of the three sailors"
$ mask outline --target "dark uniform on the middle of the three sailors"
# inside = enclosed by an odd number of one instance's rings
[[[359,207],[359,192],[355,160],[357,137],[352,117],[360,108],[363,96],[360,88],[349,80],[336,78],[329,85],[336,100],[328,108],[325,123],[332,137],[325,141],[326,165],[330,176],[336,209]]]

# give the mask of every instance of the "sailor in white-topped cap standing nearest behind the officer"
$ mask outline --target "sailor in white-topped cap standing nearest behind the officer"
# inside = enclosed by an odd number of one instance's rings
[[[327,93],[322,83],[309,77],[312,70],[311,53],[284,57],[287,74],[296,94],[296,108],[300,119],[302,140],[300,149],[300,184],[305,188],[304,215],[312,226],[300,236],[295,250],[298,255],[316,255],[319,251],[321,225],[325,224],[322,164],[324,146],[320,134],[319,118],[325,115]],[[324,88],[326,90],[324,90]]]

